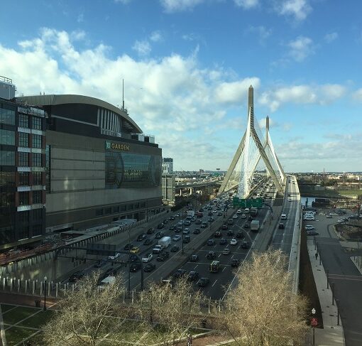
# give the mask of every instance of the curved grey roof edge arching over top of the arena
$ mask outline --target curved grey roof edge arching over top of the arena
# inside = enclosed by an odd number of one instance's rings
[[[17,101],[28,102],[29,105],[33,106],[53,106],[57,104],[92,104],[97,107],[102,107],[109,109],[110,111],[119,114],[122,119],[128,124],[128,127],[131,131],[137,134],[142,134],[143,131],[136,124],[128,114],[118,107],[115,107],[113,104],[102,101],[102,99],[96,99],[95,97],[89,97],[84,95],[75,95],[75,94],[48,94],[48,95],[35,95],[35,96],[22,96],[16,97]]]

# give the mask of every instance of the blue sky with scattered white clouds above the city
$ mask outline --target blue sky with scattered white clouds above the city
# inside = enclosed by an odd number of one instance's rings
[[[347,6],[348,4],[348,6]],[[122,104],[176,171],[227,170],[247,124],[287,172],[362,171],[361,0],[14,0],[0,75],[17,95]]]

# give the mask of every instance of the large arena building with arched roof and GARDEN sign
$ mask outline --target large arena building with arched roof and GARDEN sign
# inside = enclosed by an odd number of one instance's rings
[[[79,229],[162,208],[162,151],[127,109],[73,94],[18,97],[48,113],[46,229]]]

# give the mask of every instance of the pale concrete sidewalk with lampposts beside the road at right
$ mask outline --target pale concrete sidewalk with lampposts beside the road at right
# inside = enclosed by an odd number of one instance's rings
[[[324,325],[323,329],[315,328],[315,345],[345,345],[341,318],[339,318],[339,325],[337,325],[336,301],[334,301],[334,305],[332,305],[331,288],[329,287],[329,289],[327,289],[327,275],[324,271],[323,264],[319,264],[319,257],[318,259],[315,258],[316,250],[314,249],[313,238],[307,239],[307,247],[314,281],[318,291],[319,302],[322,308]]]

